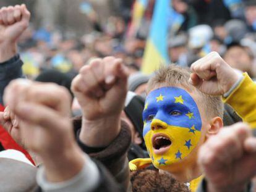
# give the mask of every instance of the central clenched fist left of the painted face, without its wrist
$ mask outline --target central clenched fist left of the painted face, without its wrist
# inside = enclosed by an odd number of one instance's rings
[[[119,115],[127,93],[127,69],[121,59],[93,59],[72,81],[83,117],[97,120]]]

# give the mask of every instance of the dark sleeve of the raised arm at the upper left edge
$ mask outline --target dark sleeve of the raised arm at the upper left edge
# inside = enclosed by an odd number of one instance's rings
[[[3,104],[2,96],[4,88],[11,80],[22,78],[22,65],[19,54],[15,55],[6,62],[0,63],[0,104]]]

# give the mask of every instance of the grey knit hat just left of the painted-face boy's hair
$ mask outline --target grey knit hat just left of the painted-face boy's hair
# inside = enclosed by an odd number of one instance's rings
[[[134,73],[130,75],[128,79],[128,90],[135,91],[138,86],[147,83],[150,79],[150,75],[145,75],[141,72]]]

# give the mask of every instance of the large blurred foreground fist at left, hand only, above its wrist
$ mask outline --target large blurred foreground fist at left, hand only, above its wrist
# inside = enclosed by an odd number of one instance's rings
[[[40,156],[51,156],[68,149],[70,141],[74,141],[69,119],[70,95],[65,88],[18,79],[7,86],[4,102],[19,119],[16,137],[26,149]],[[14,124],[9,125],[12,136]],[[63,148],[59,148],[60,145]]]

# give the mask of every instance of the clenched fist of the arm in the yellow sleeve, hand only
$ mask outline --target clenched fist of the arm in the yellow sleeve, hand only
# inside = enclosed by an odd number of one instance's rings
[[[223,95],[239,79],[217,52],[211,52],[191,65],[190,83],[205,94]]]

